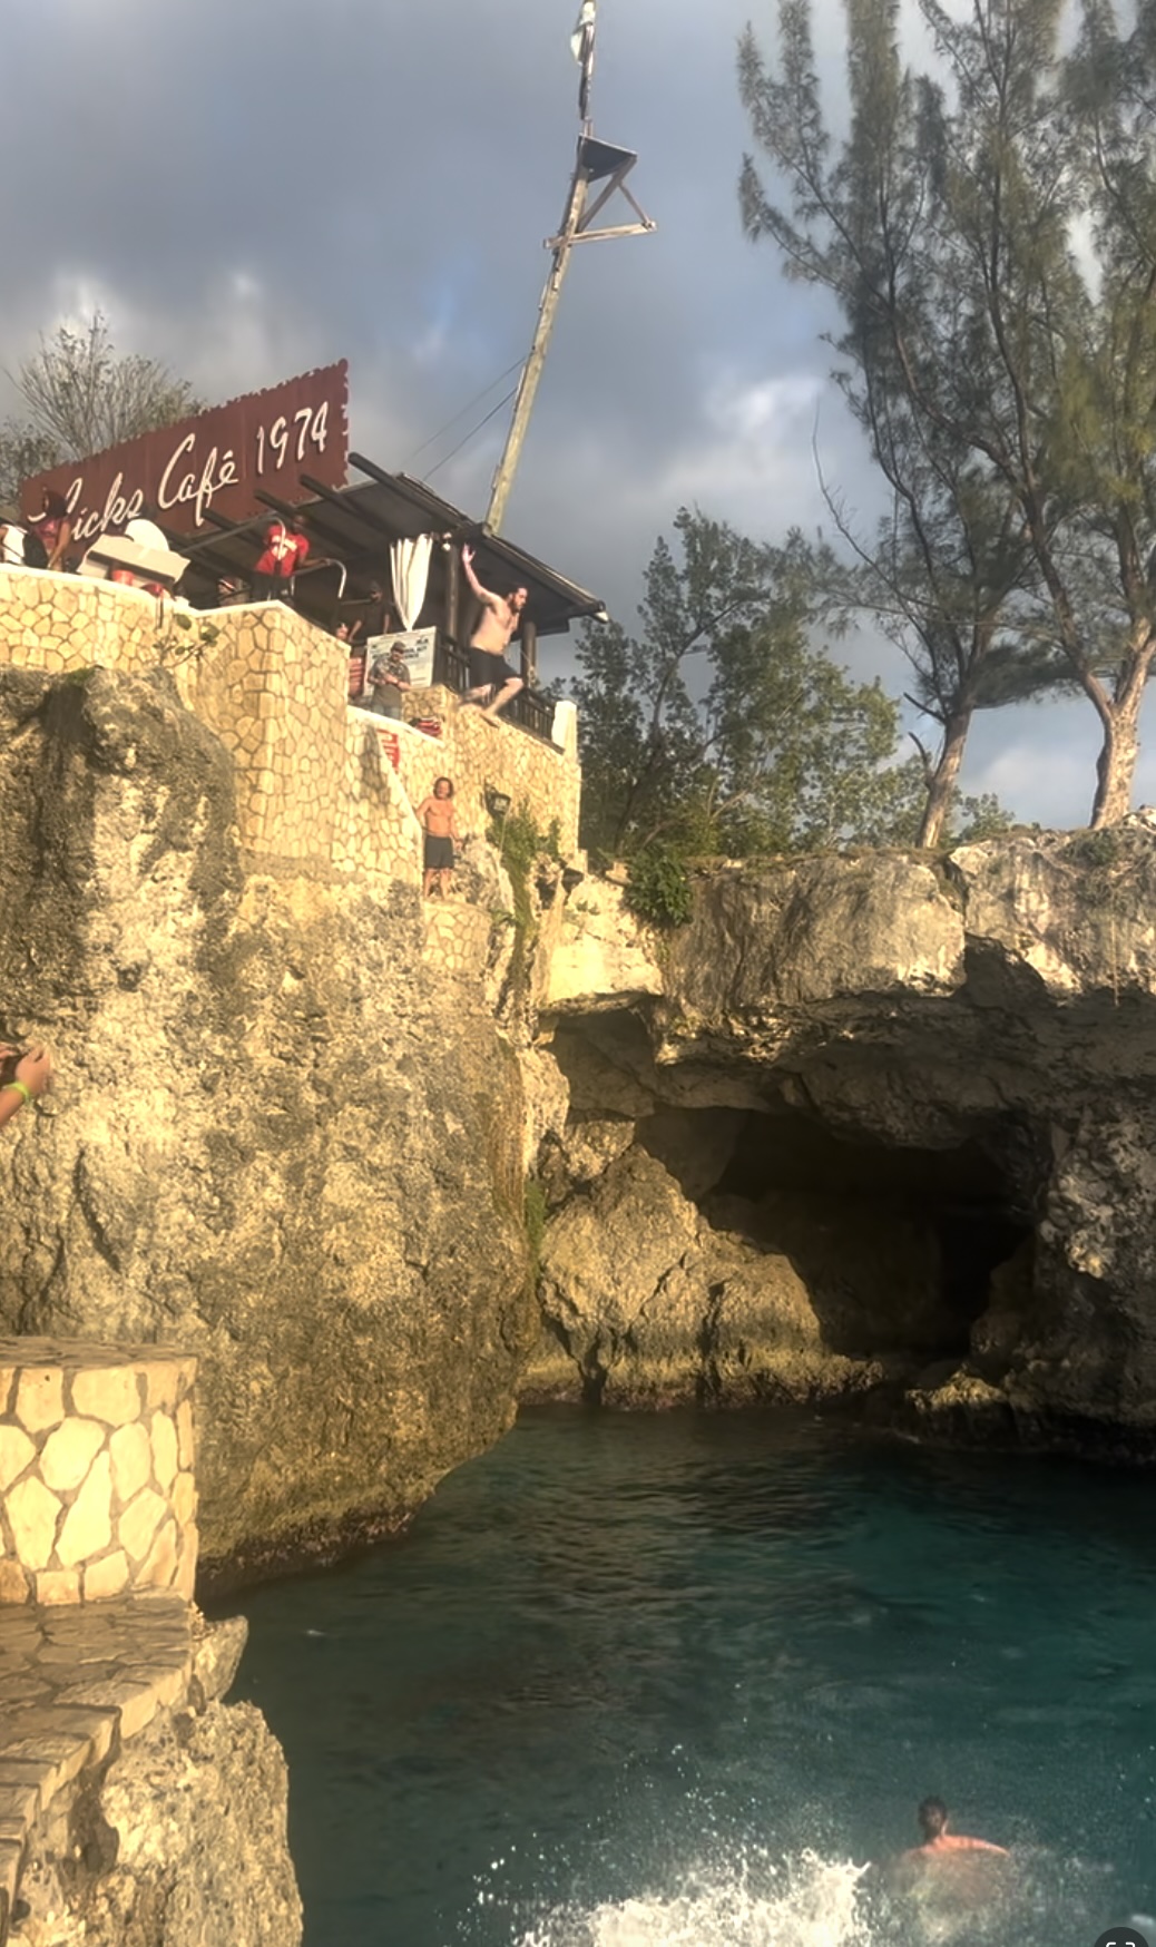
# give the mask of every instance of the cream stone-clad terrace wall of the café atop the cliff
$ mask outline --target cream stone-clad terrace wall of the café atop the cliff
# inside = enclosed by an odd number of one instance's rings
[[[202,625],[212,641],[200,641]],[[350,711],[344,644],[280,602],[199,615],[113,582],[0,570],[0,664],[138,674],[158,662],[234,757],[237,835],[251,853],[413,884],[420,833],[411,808],[442,773],[463,831],[485,831],[487,790],[500,790],[543,829],[557,820],[566,857],[578,847],[582,779],[568,720],[559,750],[461,711],[448,689],[413,691],[409,716],[442,720],[430,738]],[[397,734],[397,769],[383,761],[381,730]]]

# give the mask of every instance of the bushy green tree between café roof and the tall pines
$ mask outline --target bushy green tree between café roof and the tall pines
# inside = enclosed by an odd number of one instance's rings
[[[584,843],[636,855],[913,841],[921,765],[899,709],[810,641],[815,551],[683,508],[646,570],[640,631],[578,646]]]

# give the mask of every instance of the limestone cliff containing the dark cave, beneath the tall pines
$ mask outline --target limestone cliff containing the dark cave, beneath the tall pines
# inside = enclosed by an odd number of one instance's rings
[[[722,868],[660,944],[580,898],[543,979],[570,1114],[529,1396],[870,1394],[1156,1452],[1146,814]]]

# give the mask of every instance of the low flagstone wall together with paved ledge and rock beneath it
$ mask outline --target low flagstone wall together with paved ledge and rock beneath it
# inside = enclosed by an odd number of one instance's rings
[[[0,1341],[0,1947],[298,1947],[286,1764],[193,1608],[195,1361]]]

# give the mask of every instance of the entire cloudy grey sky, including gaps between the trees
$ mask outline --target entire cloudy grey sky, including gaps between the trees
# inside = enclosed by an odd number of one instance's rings
[[[448,456],[529,347],[578,132],[576,12],[8,0],[0,366],[95,306],[117,349],[212,403],[344,356],[350,446],[481,516],[508,407]],[[829,530],[817,446],[856,518],[878,506],[829,376],[835,319],[741,234],[747,19],[771,43],[771,0],[599,0],[596,132],[638,152],[631,183],[658,230],[574,253],[504,532],[627,625],[683,504],[769,541]],[[815,21],[837,103],[839,0],[815,0]],[[903,691],[901,658],[870,633],[835,652]],[[543,680],[570,666],[564,639],[543,643]],[[1096,748],[1082,701],[989,713],[963,789],[1084,824]],[[1156,740],[1137,777],[1146,798]]]

